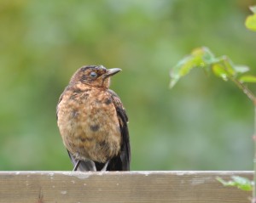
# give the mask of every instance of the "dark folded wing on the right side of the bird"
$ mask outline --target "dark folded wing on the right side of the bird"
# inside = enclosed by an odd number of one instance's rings
[[[130,147],[130,138],[129,131],[127,127],[128,117],[125,112],[125,108],[119,99],[119,96],[114,93],[112,90],[108,90],[110,93],[113,104],[115,106],[119,126],[122,135],[122,144],[121,144],[121,154],[119,157],[114,157],[108,164],[107,170],[109,171],[129,171],[130,170],[130,161],[131,161],[131,147]]]

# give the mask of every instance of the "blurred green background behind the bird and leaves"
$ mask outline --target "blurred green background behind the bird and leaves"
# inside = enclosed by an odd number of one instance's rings
[[[130,118],[131,170],[251,170],[253,104],[172,66],[207,46],[256,73],[253,0],[2,0],[0,170],[71,170],[55,106],[82,65],[119,67],[111,88]],[[255,89],[256,91],[256,89]]]

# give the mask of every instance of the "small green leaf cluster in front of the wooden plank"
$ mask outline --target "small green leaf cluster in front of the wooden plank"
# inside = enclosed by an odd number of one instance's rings
[[[239,176],[232,176],[232,180],[224,181],[223,178],[217,178],[217,180],[222,183],[224,186],[235,186],[238,189],[242,189],[245,191],[252,191],[253,190],[253,181],[250,181],[247,178],[239,177]]]

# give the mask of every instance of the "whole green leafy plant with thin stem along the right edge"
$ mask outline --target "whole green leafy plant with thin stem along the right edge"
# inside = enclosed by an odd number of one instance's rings
[[[256,7],[251,8],[253,15],[248,16],[246,20],[247,29],[256,31]],[[256,82],[256,76],[245,74],[249,70],[247,66],[235,65],[232,60],[227,56],[215,57],[209,48],[195,48],[189,56],[181,59],[171,71],[171,84],[173,87],[177,81],[189,74],[189,71],[194,68],[202,68],[204,70],[212,70],[215,76],[222,78],[224,81],[231,80],[237,87],[247,94],[247,97],[253,100],[254,104],[254,134],[256,133],[256,98],[247,86],[244,86],[245,82]],[[256,141],[254,140],[254,154],[256,155]],[[255,157],[254,157],[255,159]],[[241,178],[238,176],[231,177],[231,181],[224,181],[222,178],[217,178],[224,186],[236,186],[238,189],[251,191],[253,190],[253,200],[256,195],[256,165],[254,163],[254,178],[253,182],[247,178]]]

